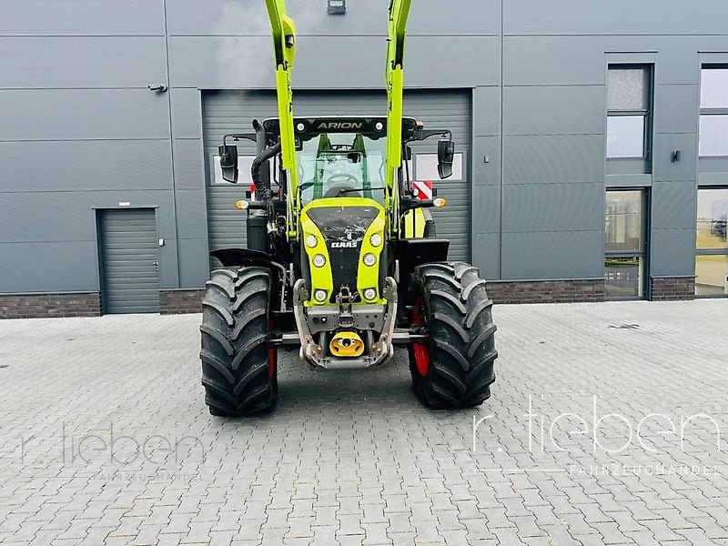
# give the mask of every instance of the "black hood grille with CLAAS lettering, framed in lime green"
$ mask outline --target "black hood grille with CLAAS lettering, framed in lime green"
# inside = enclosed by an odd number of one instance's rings
[[[308,210],[308,217],[321,230],[329,250],[334,282],[331,302],[336,301],[342,286],[348,286],[352,294],[357,291],[361,242],[378,214],[376,207],[315,207]]]

